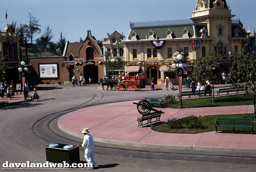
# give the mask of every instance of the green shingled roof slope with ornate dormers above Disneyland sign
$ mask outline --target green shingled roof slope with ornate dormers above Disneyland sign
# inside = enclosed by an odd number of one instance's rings
[[[166,38],[166,31],[170,29],[173,32],[173,37],[174,38],[181,38],[183,36],[182,31],[184,29],[187,29],[190,33],[190,36],[194,36],[194,29],[193,26],[176,26],[176,27],[165,27],[165,28],[143,28],[143,29],[132,29],[131,32],[129,33],[128,39],[131,40],[131,33],[134,31],[138,34],[139,39],[146,39],[146,36],[148,37],[148,32],[152,30],[155,32],[156,36],[159,39],[164,39]]]

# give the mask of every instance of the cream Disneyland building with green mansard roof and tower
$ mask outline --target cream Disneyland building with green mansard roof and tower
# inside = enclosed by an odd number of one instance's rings
[[[130,22],[129,35],[123,41],[126,68],[137,69],[141,61],[146,84],[150,84],[151,78],[164,84],[166,76],[177,84],[177,75],[168,69],[180,47],[188,52],[189,64],[196,64],[212,51],[222,54],[221,63],[229,64],[230,58],[235,60],[236,52],[248,51],[244,43],[249,40],[241,21],[233,17],[226,0],[197,0],[189,19]]]

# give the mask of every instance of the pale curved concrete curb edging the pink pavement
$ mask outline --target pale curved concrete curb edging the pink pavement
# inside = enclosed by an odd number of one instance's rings
[[[86,108],[85,108],[86,109]],[[72,112],[70,112],[72,113]],[[68,113],[68,114],[70,114]],[[66,115],[68,115],[66,114]],[[64,116],[66,116],[64,115]],[[84,138],[84,135],[76,133],[69,129],[64,128],[60,124],[60,120],[64,117],[58,119],[57,126],[59,129],[69,135],[78,137],[80,139]],[[121,140],[110,140],[93,137],[95,142],[107,143],[107,144],[116,144],[121,146],[133,146],[133,147],[146,147],[146,148],[162,148],[162,149],[179,149],[179,150],[197,150],[197,151],[221,151],[221,152],[244,152],[244,153],[256,153],[256,148],[230,148],[230,147],[213,147],[213,146],[186,146],[186,145],[168,145],[168,144],[153,144],[153,143],[141,143],[141,142],[129,142]]]

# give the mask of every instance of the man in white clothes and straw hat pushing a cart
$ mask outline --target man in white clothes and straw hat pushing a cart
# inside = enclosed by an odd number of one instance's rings
[[[94,155],[95,155],[95,148],[93,143],[93,138],[88,131],[88,128],[84,128],[82,133],[84,133],[84,141],[79,145],[84,148],[84,158],[87,163],[92,163],[92,166],[95,167]]]

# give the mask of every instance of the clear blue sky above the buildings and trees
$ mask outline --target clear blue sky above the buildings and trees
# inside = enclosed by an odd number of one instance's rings
[[[48,25],[57,41],[62,31],[67,41],[85,39],[91,30],[96,39],[107,37],[115,30],[128,36],[129,22],[175,20],[192,17],[197,0],[13,0],[1,1],[0,28],[6,26],[5,8],[8,23],[17,21],[28,24],[28,12],[38,19],[42,32]],[[243,27],[251,30],[256,26],[255,0],[226,0],[231,14],[240,18]],[[42,33],[37,34],[40,37]]]

